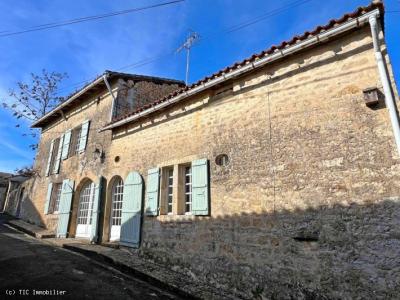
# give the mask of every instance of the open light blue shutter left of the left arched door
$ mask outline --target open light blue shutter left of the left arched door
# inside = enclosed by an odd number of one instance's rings
[[[60,206],[58,208],[58,224],[57,224],[56,236],[59,238],[67,237],[73,193],[74,193],[74,181],[65,179],[62,185]]]

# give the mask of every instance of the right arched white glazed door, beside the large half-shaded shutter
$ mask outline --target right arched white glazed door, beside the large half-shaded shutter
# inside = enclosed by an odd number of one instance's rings
[[[115,179],[111,190],[111,230],[110,241],[119,241],[121,235],[122,200],[124,196],[124,181],[121,177]]]

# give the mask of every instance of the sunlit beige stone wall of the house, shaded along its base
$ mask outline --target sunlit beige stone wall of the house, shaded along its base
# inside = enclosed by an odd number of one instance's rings
[[[50,140],[93,120],[86,152],[37,179],[33,207],[54,227],[42,213],[48,182],[75,180],[73,236],[86,180],[104,176],[109,191],[115,175],[138,171],[146,182],[150,168],[207,158],[210,216],[144,217],[140,255],[243,298],[394,297],[400,161],[384,104],[364,104],[371,86],[381,83],[364,27],[112,135],[96,130],[110,97],[93,97],[43,133],[36,161],[45,168]],[[226,167],[215,164],[221,153]],[[107,192],[103,241],[110,207]]]

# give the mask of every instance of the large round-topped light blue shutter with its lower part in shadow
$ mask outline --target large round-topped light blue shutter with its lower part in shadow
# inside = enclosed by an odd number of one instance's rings
[[[124,181],[120,244],[139,247],[142,219],[143,180],[139,173],[130,172]]]

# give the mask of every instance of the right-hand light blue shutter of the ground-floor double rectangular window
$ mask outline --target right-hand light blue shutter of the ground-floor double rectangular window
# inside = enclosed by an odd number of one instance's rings
[[[209,214],[208,161],[199,159],[192,162],[192,214]]]

